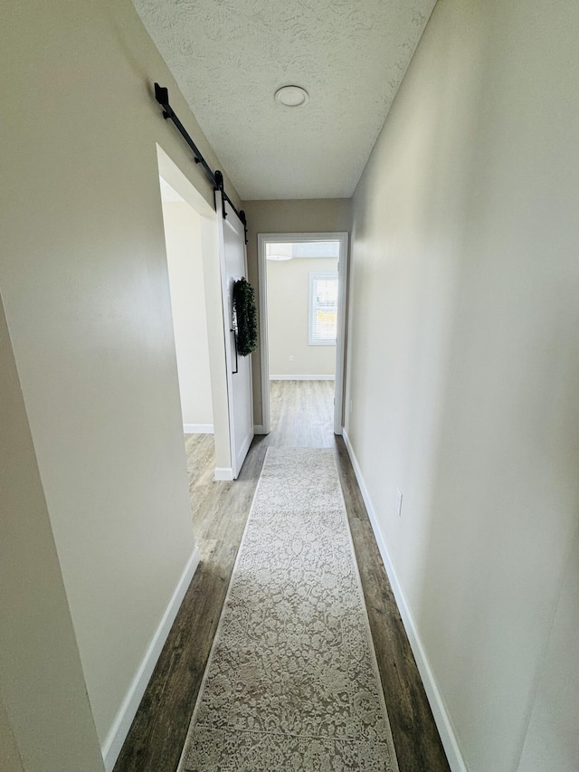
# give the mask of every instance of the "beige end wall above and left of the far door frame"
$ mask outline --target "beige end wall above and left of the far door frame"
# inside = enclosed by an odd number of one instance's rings
[[[289,201],[245,201],[248,219],[247,263],[249,281],[259,291],[258,234],[300,234],[348,232],[352,202],[349,198],[301,199]],[[261,424],[261,355],[252,355],[253,416]]]

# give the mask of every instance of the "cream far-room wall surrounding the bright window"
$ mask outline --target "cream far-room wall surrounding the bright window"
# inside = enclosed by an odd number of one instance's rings
[[[336,346],[308,344],[309,274],[320,271],[337,271],[337,260],[267,262],[271,376],[333,376],[336,372]]]

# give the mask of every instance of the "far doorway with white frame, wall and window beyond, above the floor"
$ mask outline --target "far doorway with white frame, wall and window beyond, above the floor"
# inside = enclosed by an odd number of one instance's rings
[[[344,425],[347,234],[258,234],[262,431],[271,386],[333,381],[334,434]]]

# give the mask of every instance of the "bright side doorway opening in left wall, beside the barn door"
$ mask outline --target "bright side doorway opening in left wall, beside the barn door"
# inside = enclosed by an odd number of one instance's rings
[[[157,161],[183,431],[232,479],[217,214],[158,145]]]

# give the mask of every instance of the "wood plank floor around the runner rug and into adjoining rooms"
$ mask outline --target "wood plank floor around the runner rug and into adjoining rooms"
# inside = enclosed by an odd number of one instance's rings
[[[333,388],[331,381],[272,382],[271,434],[255,437],[234,482],[213,480],[211,434],[185,436],[201,563],[114,772],[176,769],[263,458],[271,445],[334,448],[400,772],[449,772],[346,446],[333,434]]]

